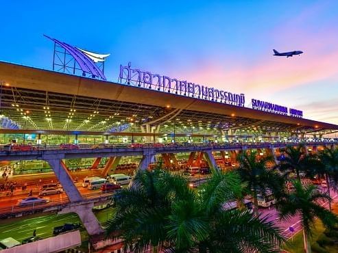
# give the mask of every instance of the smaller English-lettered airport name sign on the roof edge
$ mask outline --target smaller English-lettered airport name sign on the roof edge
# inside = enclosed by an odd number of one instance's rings
[[[259,101],[254,98],[251,100],[252,102],[252,109],[260,110],[260,111],[267,111],[271,112],[274,114],[282,114],[282,115],[288,115],[292,117],[298,117],[302,118],[303,117],[303,112],[296,110],[296,109],[287,109],[287,107],[282,106],[282,105],[275,105],[273,103],[265,102],[265,101]]]

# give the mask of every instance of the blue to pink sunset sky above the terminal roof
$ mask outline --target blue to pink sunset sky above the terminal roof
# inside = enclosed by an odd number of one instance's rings
[[[46,2],[1,3],[1,61],[51,69],[47,34],[111,53],[110,81],[132,62],[338,124],[338,1]]]

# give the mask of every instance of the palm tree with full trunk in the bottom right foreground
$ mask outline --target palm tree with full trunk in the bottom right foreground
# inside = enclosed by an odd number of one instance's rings
[[[333,228],[338,224],[338,218],[333,213],[322,207],[319,203],[330,201],[327,194],[320,193],[314,185],[304,185],[299,181],[293,181],[295,191],[285,194],[277,204],[280,219],[290,219],[294,215],[300,216],[303,228],[304,250],[311,252],[311,228],[315,218],[319,218],[324,226]]]

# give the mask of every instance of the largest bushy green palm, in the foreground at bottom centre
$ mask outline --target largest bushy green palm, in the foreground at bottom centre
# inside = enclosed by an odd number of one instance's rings
[[[215,171],[195,191],[180,175],[160,168],[137,172],[133,187],[114,195],[117,212],[106,232],[142,252],[258,252],[278,251],[280,230],[264,217],[248,211],[225,211],[224,202],[239,196],[236,172]]]

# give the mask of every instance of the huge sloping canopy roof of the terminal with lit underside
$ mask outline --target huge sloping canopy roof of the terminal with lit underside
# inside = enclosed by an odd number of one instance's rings
[[[21,129],[109,131],[132,123],[184,129],[328,133],[335,124],[293,118],[0,62],[1,114]],[[132,131],[140,131],[139,128]]]

